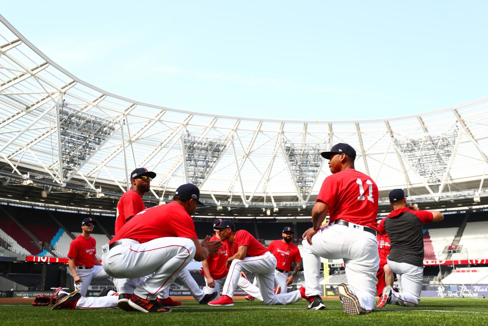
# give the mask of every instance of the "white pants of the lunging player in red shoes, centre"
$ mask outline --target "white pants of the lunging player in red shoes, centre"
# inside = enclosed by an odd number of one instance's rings
[[[243,260],[235,259],[229,267],[229,274],[225,279],[222,294],[229,297],[234,296],[234,290],[241,277],[241,271],[254,273],[258,279],[258,287],[265,304],[293,304],[302,300],[299,290],[274,294],[274,270],[276,258],[269,251],[263,256],[246,257]],[[376,274],[375,274],[376,275]]]

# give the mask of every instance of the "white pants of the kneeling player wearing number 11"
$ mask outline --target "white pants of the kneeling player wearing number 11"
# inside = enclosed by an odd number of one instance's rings
[[[305,295],[321,295],[319,284],[320,257],[343,259],[349,290],[356,295],[361,312],[376,307],[376,272],[380,265],[376,236],[363,230],[361,225],[328,225],[312,237],[312,245],[303,241]],[[358,227],[359,226],[359,227]]]

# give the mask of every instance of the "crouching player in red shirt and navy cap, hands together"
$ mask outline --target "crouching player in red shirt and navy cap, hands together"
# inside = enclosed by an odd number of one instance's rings
[[[115,278],[150,277],[138,284],[127,305],[142,312],[170,312],[156,296],[163,292],[192,260],[203,261],[222,247],[221,241],[199,242],[191,215],[200,190],[184,184],[173,201],[148,208],[127,221],[117,235],[102,247],[103,268]],[[119,300],[120,306],[120,300]]]

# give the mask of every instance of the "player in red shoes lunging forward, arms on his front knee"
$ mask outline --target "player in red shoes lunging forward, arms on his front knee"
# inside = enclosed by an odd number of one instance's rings
[[[234,223],[226,219],[215,228],[219,230],[220,238],[229,242],[229,255],[232,256],[225,265],[229,273],[222,288],[222,296],[209,302],[209,305],[234,305],[234,290],[243,270],[255,274],[265,304],[293,304],[302,299],[300,290],[284,294],[273,293],[276,258],[249,232],[236,231]]]

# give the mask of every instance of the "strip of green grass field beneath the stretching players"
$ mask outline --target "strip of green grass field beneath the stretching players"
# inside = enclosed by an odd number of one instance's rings
[[[324,300],[326,309],[309,311],[306,302],[266,306],[236,301],[231,307],[212,307],[185,301],[171,313],[122,310],[56,310],[31,304],[0,304],[0,325],[488,325],[487,299],[422,299],[418,308],[387,304],[375,312],[349,316],[338,299]]]

